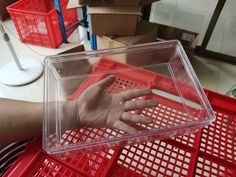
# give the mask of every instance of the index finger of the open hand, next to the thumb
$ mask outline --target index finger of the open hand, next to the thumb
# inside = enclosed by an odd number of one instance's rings
[[[150,89],[136,89],[136,90],[129,90],[126,92],[121,93],[122,98],[125,101],[138,98],[140,96],[150,95],[152,91]]]

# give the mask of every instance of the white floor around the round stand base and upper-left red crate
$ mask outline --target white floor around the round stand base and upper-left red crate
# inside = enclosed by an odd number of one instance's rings
[[[16,29],[11,20],[4,21],[4,28],[8,33],[12,45],[20,60],[23,58],[30,58],[32,60],[39,60],[43,63],[46,56],[64,52],[78,46],[79,44],[84,44],[86,49],[89,47],[87,32],[82,28],[79,28],[73,32],[68,39],[68,44],[62,44],[57,49],[23,44],[19,40]],[[1,39],[0,36],[0,68],[10,61],[13,61],[12,55],[7,47],[7,44]],[[0,82],[0,97],[41,102],[43,101],[43,76],[30,84],[19,87],[7,86]]]

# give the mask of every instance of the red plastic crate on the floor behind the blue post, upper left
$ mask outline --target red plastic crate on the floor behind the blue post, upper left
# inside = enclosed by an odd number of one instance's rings
[[[77,21],[76,9],[66,9],[67,3],[68,0],[61,0],[66,28]],[[7,10],[22,42],[50,48],[62,44],[58,13],[53,0],[20,0]],[[74,29],[69,30],[67,36]]]

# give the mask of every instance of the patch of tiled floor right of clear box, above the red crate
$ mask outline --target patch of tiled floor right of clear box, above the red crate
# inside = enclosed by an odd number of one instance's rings
[[[226,94],[236,84],[236,65],[199,56],[191,63],[204,88]]]

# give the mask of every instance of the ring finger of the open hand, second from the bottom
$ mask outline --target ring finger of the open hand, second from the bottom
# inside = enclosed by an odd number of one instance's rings
[[[152,119],[150,117],[135,115],[135,114],[131,114],[129,112],[124,112],[122,114],[121,120],[133,122],[133,123],[142,123],[142,124],[152,123]]]

